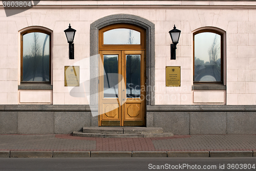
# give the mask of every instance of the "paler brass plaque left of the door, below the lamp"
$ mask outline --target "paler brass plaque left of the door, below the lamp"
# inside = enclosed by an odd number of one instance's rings
[[[79,66],[65,66],[65,87],[79,87]]]

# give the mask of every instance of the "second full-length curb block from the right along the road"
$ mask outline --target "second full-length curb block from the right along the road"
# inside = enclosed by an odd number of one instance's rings
[[[209,152],[167,152],[167,157],[209,157]]]

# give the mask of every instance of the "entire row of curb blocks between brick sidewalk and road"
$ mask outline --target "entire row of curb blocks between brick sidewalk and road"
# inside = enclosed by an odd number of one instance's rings
[[[256,157],[253,151],[0,151],[0,158]]]

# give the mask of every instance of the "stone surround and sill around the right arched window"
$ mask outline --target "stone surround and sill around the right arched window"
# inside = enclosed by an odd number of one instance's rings
[[[223,83],[194,83],[192,85],[192,90],[226,90],[226,31],[217,27],[202,27],[192,31],[192,36],[194,38],[194,33],[200,30],[216,30],[223,34]],[[194,47],[193,47],[194,51]],[[194,58],[194,55],[193,55]],[[192,60],[194,61],[194,59]]]

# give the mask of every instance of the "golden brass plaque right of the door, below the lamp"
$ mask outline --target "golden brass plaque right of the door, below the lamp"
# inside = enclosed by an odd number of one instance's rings
[[[166,87],[180,87],[180,67],[165,67]]]

